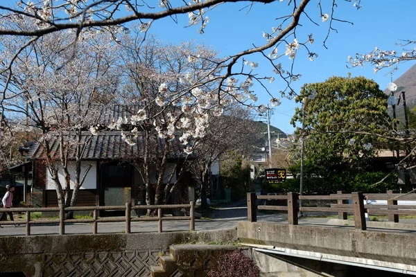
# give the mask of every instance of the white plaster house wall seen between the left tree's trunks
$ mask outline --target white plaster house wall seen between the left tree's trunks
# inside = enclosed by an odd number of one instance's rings
[[[85,181],[83,186],[80,187],[81,190],[83,189],[95,189],[97,188],[97,163],[96,161],[81,161],[81,178],[84,175],[87,166],[92,165],[92,168],[89,170],[87,177],[85,177]],[[75,162],[69,162],[68,171],[71,175],[71,189],[73,189],[73,178],[75,178]],[[59,167],[58,170],[59,180],[62,186],[65,186],[65,178],[62,174],[62,167]],[[51,173],[49,172],[48,168],[46,168],[46,190],[55,190],[55,182],[51,179]]]

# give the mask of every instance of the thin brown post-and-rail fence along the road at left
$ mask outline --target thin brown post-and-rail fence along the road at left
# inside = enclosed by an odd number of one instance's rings
[[[162,210],[167,208],[189,208],[189,216],[163,216]],[[132,210],[139,209],[157,209],[157,217],[132,217]],[[101,217],[98,218],[98,211],[125,211],[125,217]],[[91,219],[72,219],[65,220],[65,213],[69,211],[93,211]],[[125,233],[131,233],[131,222],[140,221],[157,221],[158,232],[162,233],[162,222],[164,220],[189,220],[189,231],[195,230],[195,202],[189,204],[172,204],[172,205],[137,205],[132,206],[131,203],[125,203],[125,206],[83,206],[83,207],[67,207],[63,205],[57,208],[0,208],[0,213],[19,212],[26,213],[26,221],[1,221],[0,225],[24,224],[26,225],[26,235],[31,235],[31,225],[35,224],[59,224],[59,234],[65,234],[65,224],[68,223],[92,223],[92,233],[98,231],[98,222],[125,222]],[[58,220],[31,220],[31,213],[34,212],[59,212]],[[23,222],[23,221],[22,221]]]

